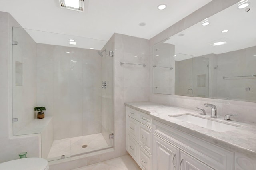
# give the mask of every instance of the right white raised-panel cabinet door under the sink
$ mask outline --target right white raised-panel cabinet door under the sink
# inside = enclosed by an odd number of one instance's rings
[[[179,168],[180,170],[214,170],[182,150],[180,150]]]

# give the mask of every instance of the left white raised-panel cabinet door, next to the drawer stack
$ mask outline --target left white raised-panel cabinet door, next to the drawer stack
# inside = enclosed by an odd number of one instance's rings
[[[153,170],[178,170],[179,149],[153,136]]]

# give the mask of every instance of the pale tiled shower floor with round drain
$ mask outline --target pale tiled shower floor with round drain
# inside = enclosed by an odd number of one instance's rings
[[[87,145],[87,147],[82,148],[82,145]],[[62,155],[65,155],[67,158],[71,155],[83,154],[108,147],[110,146],[108,146],[101,133],[54,140],[47,160],[60,159]]]

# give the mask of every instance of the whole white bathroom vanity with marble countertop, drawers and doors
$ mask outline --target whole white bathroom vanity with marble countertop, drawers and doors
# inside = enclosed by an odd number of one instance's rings
[[[253,123],[152,102],[125,105],[126,150],[143,170],[256,170]]]

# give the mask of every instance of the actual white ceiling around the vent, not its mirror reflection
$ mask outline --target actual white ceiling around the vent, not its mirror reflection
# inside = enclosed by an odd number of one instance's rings
[[[23,28],[108,41],[114,33],[150,39],[210,1],[85,0],[84,12],[77,12],[61,8],[59,0],[0,0],[0,11]],[[167,8],[158,10],[162,3]]]

